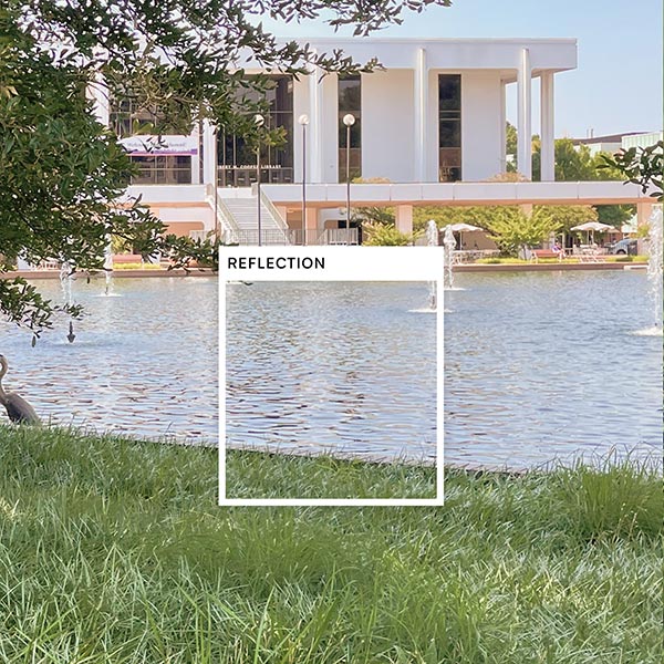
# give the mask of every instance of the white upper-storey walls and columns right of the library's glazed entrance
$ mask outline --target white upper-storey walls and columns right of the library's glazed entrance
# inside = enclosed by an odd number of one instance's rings
[[[385,68],[356,80],[312,72],[293,82],[293,116],[310,118],[312,183],[343,176],[345,113],[359,115],[351,147],[361,176],[393,183],[479,181],[505,170],[506,85],[517,83],[519,163],[528,177],[532,79],[541,79],[542,179],[553,179],[554,74],[577,65],[573,39],[313,40]],[[301,136],[293,141],[301,179]],[[344,181],[344,178],[341,178]]]

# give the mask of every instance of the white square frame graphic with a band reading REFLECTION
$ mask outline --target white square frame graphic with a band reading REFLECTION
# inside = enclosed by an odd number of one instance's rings
[[[436,269],[433,271],[433,279],[425,281],[436,282],[437,307],[436,307],[436,497],[435,498],[227,498],[226,497],[226,288],[229,281],[241,280],[241,274],[234,273],[229,278],[228,270],[225,268],[224,258],[228,253],[240,253],[250,256],[320,256],[321,253],[330,256],[336,253],[344,260],[344,276],[339,278],[320,278],[315,272],[308,274],[307,278],[284,279],[284,272],[266,273],[257,276],[251,273],[246,280],[251,281],[423,281],[422,274],[417,278],[405,276],[403,273],[394,274],[395,251],[411,252],[418,250],[435,250],[439,255]],[[357,252],[373,251],[376,256],[383,251],[385,267],[388,267],[393,277],[386,279],[383,276],[376,279],[367,279],[365,276],[361,279],[353,278],[352,268],[356,264],[352,259],[357,258]],[[385,251],[386,250],[386,251]],[[345,255],[345,257],[344,257]],[[349,272],[350,269],[350,272]],[[219,507],[440,507],[445,504],[445,435],[444,435],[444,394],[445,394],[445,373],[444,373],[444,253],[443,247],[220,247],[219,248],[219,455],[218,455],[218,505]],[[263,278],[269,276],[271,278]],[[319,278],[317,278],[319,277]]]

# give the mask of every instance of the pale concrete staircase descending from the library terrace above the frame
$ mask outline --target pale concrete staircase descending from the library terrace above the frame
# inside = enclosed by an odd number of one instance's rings
[[[258,245],[258,197],[250,190],[219,189],[219,203],[226,217],[236,227],[232,241],[240,245]],[[260,206],[261,243],[289,245],[288,229],[277,211],[266,205]]]

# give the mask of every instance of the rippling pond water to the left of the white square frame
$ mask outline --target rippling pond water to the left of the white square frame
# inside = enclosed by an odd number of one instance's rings
[[[62,301],[60,282],[40,281]],[[141,437],[217,440],[217,280],[77,279],[73,299],[86,315],[55,321],[34,347],[30,334],[0,322],[7,390],[23,395],[44,422]],[[4,421],[4,413],[2,413]]]

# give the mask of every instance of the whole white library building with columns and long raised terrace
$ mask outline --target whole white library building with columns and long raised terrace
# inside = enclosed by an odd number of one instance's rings
[[[129,193],[177,235],[221,230],[240,243],[357,241],[346,209],[391,206],[412,229],[413,206],[643,203],[622,183],[554,183],[556,74],[577,66],[575,39],[312,39],[383,69],[340,77],[269,72],[259,122],[286,141],[259,151],[204,125],[149,145],[131,136],[128,102],[100,116],[122,137],[138,175]],[[253,70],[256,71],[256,70]],[[251,74],[252,70],[247,69]],[[533,79],[539,79],[541,181],[487,181],[506,168],[506,86],[516,84],[519,172],[531,173]],[[350,183],[350,184],[349,184]],[[352,215],[351,215],[352,216]],[[260,238],[259,238],[260,227]]]

